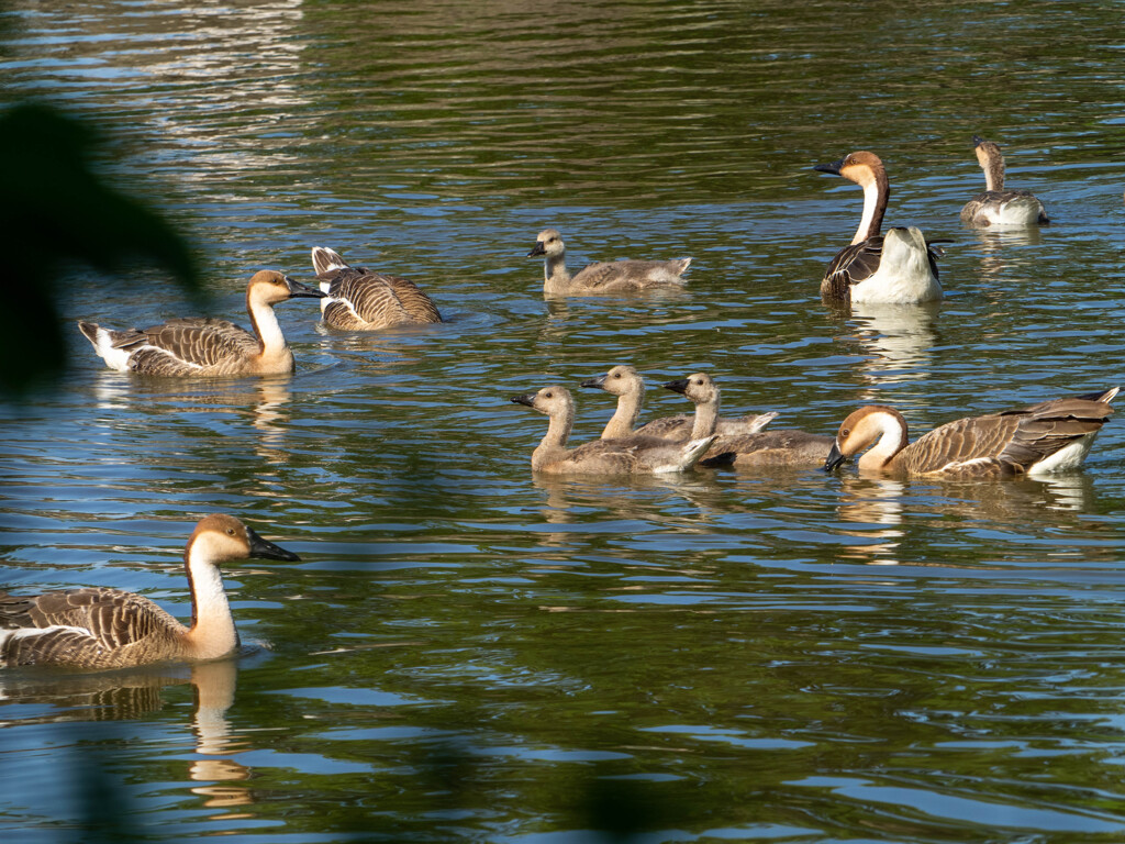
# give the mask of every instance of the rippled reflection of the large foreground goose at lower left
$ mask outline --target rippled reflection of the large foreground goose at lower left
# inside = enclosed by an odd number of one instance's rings
[[[250,779],[250,769],[234,754],[250,748],[245,739],[232,734],[226,712],[234,703],[238,673],[236,659],[147,666],[144,668],[61,673],[50,670],[8,670],[0,676],[0,728],[29,724],[65,721],[126,721],[160,711],[162,690],[190,684],[195,692],[191,731],[199,758],[188,766],[188,778],[196,782],[224,783],[192,788],[207,798],[205,806],[244,806],[252,802],[249,790],[225,783]],[[34,715],[6,717],[14,707]]]

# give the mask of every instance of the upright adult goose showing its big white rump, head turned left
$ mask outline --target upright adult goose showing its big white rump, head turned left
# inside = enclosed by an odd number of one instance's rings
[[[922,233],[909,228],[889,228],[880,234],[890,183],[883,162],[872,152],[845,155],[831,164],[812,168],[842,176],[863,188],[863,218],[852,244],[845,246],[825,272],[820,296],[830,304],[879,302],[909,305],[942,298],[937,280],[937,258]]]

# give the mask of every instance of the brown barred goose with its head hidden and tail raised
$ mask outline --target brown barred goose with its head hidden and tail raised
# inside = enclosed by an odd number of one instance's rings
[[[441,322],[438,306],[413,281],[351,267],[339,253],[313,246],[313,268],[327,294],[321,299],[324,322],[346,331],[378,331],[390,325]]]

